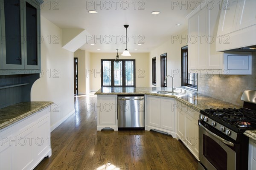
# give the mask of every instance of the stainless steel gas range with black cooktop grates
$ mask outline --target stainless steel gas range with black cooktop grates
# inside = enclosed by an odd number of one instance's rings
[[[247,170],[248,137],[256,129],[256,91],[244,91],[243,108],[206,109],[199,116],[198,170]]]

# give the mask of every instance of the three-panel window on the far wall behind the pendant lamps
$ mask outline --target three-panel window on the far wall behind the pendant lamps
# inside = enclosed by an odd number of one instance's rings
[[[135,59],[101,60],[102,87],[135,87]]]

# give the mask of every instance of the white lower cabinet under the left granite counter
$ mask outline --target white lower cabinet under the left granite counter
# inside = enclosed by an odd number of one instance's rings
[[[44,108],[0,130],[0,169],[28,170],[52,155],[50,113]]]

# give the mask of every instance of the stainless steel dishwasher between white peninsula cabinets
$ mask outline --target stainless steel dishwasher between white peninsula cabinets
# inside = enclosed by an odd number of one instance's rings
[[[145,127],[144,96],[117,97],[118,127]]]

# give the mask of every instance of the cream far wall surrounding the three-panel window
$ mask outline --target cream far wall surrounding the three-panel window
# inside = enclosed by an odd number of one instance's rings
[[[101,59],[115,59],[116,53],[90,53],[90,91],[101,88]],[[119,55],[119,59],[135,59],[136,87],[148,87],[148,53],[131,53],[131,57]]]

